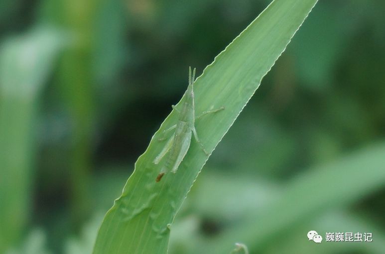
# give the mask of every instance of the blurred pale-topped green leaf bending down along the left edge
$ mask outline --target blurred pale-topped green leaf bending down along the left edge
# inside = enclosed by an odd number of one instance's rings
[[[0,48],[0,253],[30,215],[37,98],[62,43],[57,31],[39,27]]]

